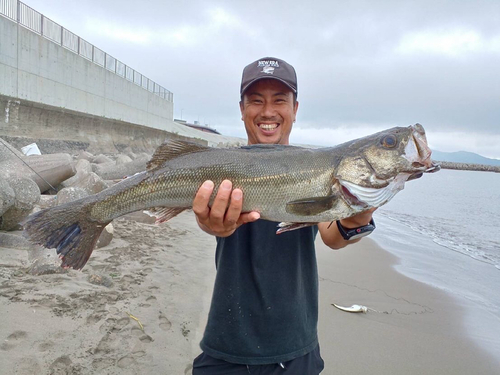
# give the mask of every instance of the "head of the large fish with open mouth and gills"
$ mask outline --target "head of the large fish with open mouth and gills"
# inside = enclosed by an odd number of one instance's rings
[[[380,207],[408,180],[440,167],[431,159],[422,125],[397,127],[343,145],[337,188],[350,206]]]

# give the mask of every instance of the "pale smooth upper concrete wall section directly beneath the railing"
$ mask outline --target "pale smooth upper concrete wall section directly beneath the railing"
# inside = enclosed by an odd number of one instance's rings
[[[171,130],[173,103],[0,16],[0,94]]]

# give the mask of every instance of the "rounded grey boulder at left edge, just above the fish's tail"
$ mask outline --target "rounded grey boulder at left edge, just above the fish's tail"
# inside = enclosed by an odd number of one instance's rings
[[[9,176],[6,178],[15,194],[14,204],[0,218],[1,230],[15,230],[40,200],[40,190],[28,177]]]

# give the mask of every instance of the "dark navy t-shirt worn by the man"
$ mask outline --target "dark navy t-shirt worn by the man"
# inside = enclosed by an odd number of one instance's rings
[[[208,355],[269,364],[318,344],[318,227],[276,235],[277,225],[257,220],[217,238],[217,276],[200,344]]]

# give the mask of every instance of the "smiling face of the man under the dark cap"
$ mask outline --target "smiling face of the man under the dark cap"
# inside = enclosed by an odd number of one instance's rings
[[[240,102],[248,144],[288,144],[299,103],[292,90],[276,79],[261,79],[246,89]]]

